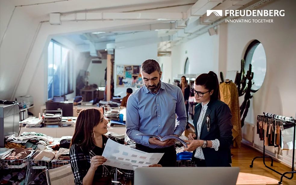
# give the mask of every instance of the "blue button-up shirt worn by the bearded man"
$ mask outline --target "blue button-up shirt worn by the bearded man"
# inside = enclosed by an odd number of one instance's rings
[[[148,136],[136,134],[181,136],[187,125],[182,90],[176,85],[160,83],[156,94],[145,86],[136,90],[129,96],[126,106],[126,134],[136,143],[150,148],[163,146],[151,145]]]

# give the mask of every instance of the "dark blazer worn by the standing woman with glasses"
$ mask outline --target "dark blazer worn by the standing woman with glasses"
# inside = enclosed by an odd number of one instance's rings
[[[232,123],[231,123],[231,112],[229,106],[220,100],[210,100],[207,105],[207,111],[204,116],[201,125],[201,135],[200,140],[215,140],[220,141],[219,150],[216,151],[214,148],[202,148],[204,153],[204,159],[208,167],[211,166],[230,166],[231,151],[230,146],[232,145]],[[197,133],[197,122],[199,115],[201,113],[201,103],[195,106],[195,113],[193,124],[195,128],[195,133]],[[207,131],[206,117],[209,115],[210,118],[210,130]],[[194,157],[195,151],[192,157]]]

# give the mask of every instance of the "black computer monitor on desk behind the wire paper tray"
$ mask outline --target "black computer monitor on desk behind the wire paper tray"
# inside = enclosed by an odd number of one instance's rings
[[[46,111],[49,110],[62,110],[63,116],[73,116],[73,102],[53,102],[53,101],[47,101],[45,102]],[[50,113],[50,112],[49,112]],[[54,113],[54,112],[52,112]]]

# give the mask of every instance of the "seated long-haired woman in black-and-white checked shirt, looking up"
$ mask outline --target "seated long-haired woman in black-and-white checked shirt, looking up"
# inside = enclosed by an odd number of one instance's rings
[[[76,185],[111,185],[116,168],[103,165],[107,159],[103,154],[108,139],[108,121],[96,108],[80,111],[70,146],[70,163]],[[156,165],[154,165],[156,166]],[[120,170],[126,177],[133,178],[132,170]]]

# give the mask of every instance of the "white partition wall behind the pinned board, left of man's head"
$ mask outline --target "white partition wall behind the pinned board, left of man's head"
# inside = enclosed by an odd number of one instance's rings
[[[129,45],[133,45],[132,41],[134,40],[135,44],[139,42],[137,37],[143,36],[144,33],[136,33],[131,35],[123,35],[116,36],[115,43],[123,43],[126,42],[126,48],[116,48],[115,49],[115,57],[114,57],[114,95],[125,96],[126,89],[123,87],[116,87],[117,84],[117,75],[116,75],[116,66],[117,65],[141,65],[147,59],[157,60],[157,43],[149,43],[136,46],[136,47],[128,47]],[[157,32],[145,33],[146,37],[157,37]],[[132,37],[132,39],[131,39]],[[133,91],[135,90],[132,88]]]

